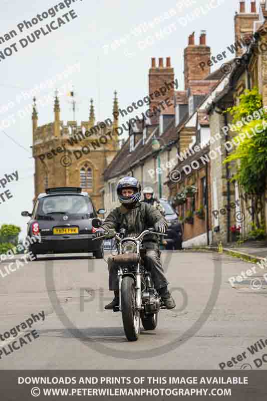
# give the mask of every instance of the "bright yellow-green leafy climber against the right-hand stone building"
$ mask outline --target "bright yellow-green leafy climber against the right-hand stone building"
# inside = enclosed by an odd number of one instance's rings
[[[239,140],[239,144],[224,163],[236,162],[237,172],[231,180],[237,180],[245,192],[252,195],[256,227],[259,228],[258,214],[262,210],[261,197],[267,177],[267,113],[263,111],[262,116],[258,113],[262,108],[262,97],[257,88],[245,90],[239,99],[238,106],[227,109],[233,115],[235,132],[238,133],[235,141]],[[243,117],[248,116],[252,116],[249,118],[250,122],[240,122]]]

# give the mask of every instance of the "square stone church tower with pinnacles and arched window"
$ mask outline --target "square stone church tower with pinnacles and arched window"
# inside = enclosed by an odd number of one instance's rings
[[[33,103],[33,157],[35,159],[35,198],[46,188],[81,186],[93,200],[96,209],[104,207],[104,169],[119,150],[116,128],[118,119],[96,122],[93,99],[89,119],[68,121],[60,119],[60,99],[55,92],[54,122],[38,126],[38,100]],[[115,92],[113,112],[118,111]]]

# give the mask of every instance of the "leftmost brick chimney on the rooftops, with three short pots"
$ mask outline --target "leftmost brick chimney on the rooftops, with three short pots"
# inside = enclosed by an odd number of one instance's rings
[[[156,66],[156,59],[151,59],[151,68],[149,69],[149,94],[154,94],[153,99],[150,103],[150,110],[153,107],[157,107],[160,102],[169,98],[169,102],[174,105],[174,92],[177,90],[174,84],[170,85],[174,81],[174,69],[171,67],[171,58],[166,58],[166,64],[164,65],[163,58],[159,58],[158,66]],[[164,95],[159,91],[160,88],[165,87],[166,92]],[[158,92],[159,96],[155,97],[155,93]],[[164,90],[162,90],[164,92]],[[167,105],[163,105],[167,108]],[[162,108],[161,108],[162,110]],[[163,111],[164,114],[164,111]],[[174,114],[172,107],[168,109],[168,114]]]

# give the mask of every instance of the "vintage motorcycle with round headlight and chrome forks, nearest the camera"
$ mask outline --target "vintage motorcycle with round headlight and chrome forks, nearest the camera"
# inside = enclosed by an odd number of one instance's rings
[[[94,228],[99,228],[101,224],[98,218],[92,220]],[[143,231],[137,237],[125,237],[125,233],[126,230],[121,229],[119,233],[109,230],[106,234],[108,238],[113,235],[118,250],[118,254],[113,256],[113,263],[118,266],[120,303],[113,311],[121,311],[125,335],[129,341],[136,341],[140,334],[140,319],[144,329],[154,330],[159,310],[165,309],[151,275],[144,267],[146,249],[142,241],[147,234],[166,234],[156,233],[153,228]],[[93,240],[104,239],[106,235]]]

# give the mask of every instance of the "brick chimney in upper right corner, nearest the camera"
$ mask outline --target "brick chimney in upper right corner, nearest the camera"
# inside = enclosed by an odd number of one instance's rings
[[[258,21],[256,2],[254,0],[250,0],[250,11],[246,13],[245,1],[240,1],[239,13],[234,16],[235,42],[240,42],[241,40],[242,45],[242,41],[245,42],[252,36],[254,21]],[[235,52],[236,57],[240,57],[244,53],[245,49],[245,45],[242,45],[242,47],[237,46],[237,50]]]

